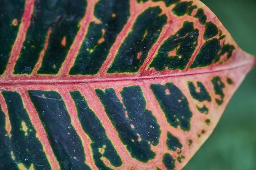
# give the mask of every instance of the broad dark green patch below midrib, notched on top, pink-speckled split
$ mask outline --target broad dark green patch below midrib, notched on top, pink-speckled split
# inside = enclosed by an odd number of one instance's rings
[[[150,149],[150,144],[159,143],[160,126],[152,112],[146,109],[140,86],[123,88],[120,93],[124,105],[113,88],[95,91],[131,156],[142,162],[154,159],[156,153]]]

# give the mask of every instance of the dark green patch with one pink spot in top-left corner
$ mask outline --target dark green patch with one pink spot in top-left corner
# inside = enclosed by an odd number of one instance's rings
[[[24,6],[25,0],[0,0],[0,75],[6,69]]]

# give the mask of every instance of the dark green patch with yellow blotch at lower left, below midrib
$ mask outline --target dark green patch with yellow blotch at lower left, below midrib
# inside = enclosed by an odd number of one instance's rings
[[[50,169],[43,146],[36,137],[35,128],[24,108],[20,94],[13,91],[3,91],[2,94],[6,101],[12,127],[10,149],[15,157],[15,163],[21,163],[27,169],[31,165],[37,170]]]

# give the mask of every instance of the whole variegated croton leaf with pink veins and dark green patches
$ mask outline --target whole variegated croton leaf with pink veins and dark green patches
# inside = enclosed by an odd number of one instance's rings
[[[1,0],[0,169],[180,170],[254,62],[198,0]]]

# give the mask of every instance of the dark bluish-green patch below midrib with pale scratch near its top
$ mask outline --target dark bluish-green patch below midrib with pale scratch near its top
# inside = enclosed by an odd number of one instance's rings
[[[28,91],[28,93],[61,169],[90,170],[85,164],[81,139],[71,124],[70,115],[60,94],[56,91]]]

